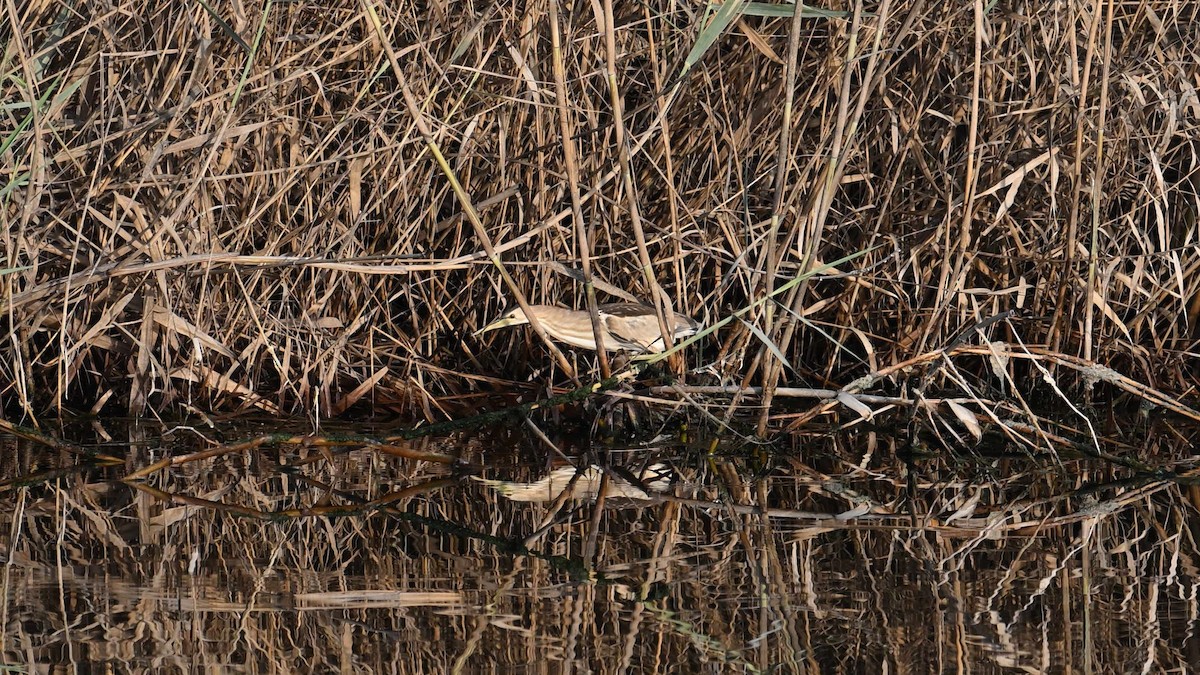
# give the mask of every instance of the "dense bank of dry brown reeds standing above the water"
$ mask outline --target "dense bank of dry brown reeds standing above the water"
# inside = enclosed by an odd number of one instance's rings
[[[580,279],[736,315],[672,368],[763,410],[986,341],[1192,393],[1196,4],[13,7],[11,414],[452,417],[599,378],[472,336]]]

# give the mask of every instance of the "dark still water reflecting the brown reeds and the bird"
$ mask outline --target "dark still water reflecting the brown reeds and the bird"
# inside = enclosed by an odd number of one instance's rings
[[[1186,671],[1175,431],[1114,442],[1138,467],[882,431],[214,453],[96,428],[108,466],[5,438],[0,646],[29,670]]]

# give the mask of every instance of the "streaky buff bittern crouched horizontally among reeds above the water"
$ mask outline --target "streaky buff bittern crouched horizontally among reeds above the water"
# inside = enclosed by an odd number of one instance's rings
[[[595,333],[592,330],[592,315],[588,312],[553,305],[530,305],[529,309],[551,338],[574,347],[596,350]],[[596,307],[596,313],[600,318],[600,329],[604,330],[605,351],[653,353],[662,351],[662,331],[653,307],[638,303],[608,303]],[[529,317],[521,307],[517,307],[488,323],[475,335],[522,323],[529,323]],[[695,319],[679,312],[674,313],[672,339],[695,335],[697,330],[700,330],[700,323]]]

